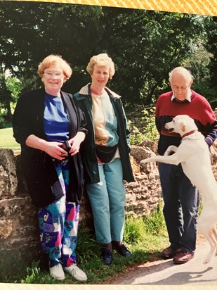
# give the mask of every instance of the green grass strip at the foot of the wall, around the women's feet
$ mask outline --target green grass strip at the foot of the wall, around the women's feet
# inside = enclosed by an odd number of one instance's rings
[[[86,272],[88,281],[86,284],[107,284],[108,281],[123,275],[126,270],[136,265],[146,263],[150,260],[157,260],[160,257],[162,248],[168,245],[168,237],[161,206],[149,217],[126,216],[124,229],[124,244],[133,254],[132,258],[124,258],[114,251],[112,265],[106,266],[100,259],[100,245],[85,228],[79,227],[79,239],[77,244],[77,259],[79,267]],[[152,225],[154,232],[147,230]],[[152,221],[152,222],[151,222]],[[81,284],[76,282],[70,275],[66,274],[65,280],[59,282],[50,277],[48,265],[41,260],[30,260],[22,257],[22,254],[1,253],[0,259],[0,282],[22,283],[22,284]]]

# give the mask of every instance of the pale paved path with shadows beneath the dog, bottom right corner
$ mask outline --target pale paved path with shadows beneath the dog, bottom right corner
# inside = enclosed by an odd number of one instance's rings
[[[140,265],[110,284],[140,285],[213,285],[217,284],[217,257],[208,264],[203,260],[209,251],[209,244],[202,239],[197,245],[195,258],[183,265],[173,260],[157,260]]]

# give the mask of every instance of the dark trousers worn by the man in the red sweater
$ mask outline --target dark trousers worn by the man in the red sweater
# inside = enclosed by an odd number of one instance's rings
[[[164,218],[172,246],[195,251],[199,193],[181,165],[159,163]]]

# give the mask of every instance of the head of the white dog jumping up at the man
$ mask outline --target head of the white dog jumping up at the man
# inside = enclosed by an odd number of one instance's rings
[[[183,136],[192,130],[197,130],[195,121],[188,115],[177,115],[171,122],[165,124],[166,130],[175,132]]]

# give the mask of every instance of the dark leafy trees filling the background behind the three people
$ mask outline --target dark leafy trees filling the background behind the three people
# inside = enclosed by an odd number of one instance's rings
[[[7,120],[15,102],[7,73],[22,82],[23,90],[41,87],[37,65],[50,53],[72,65],[74,73],[63,89],[74,93],[90,81],[86,65],[91,56],[107,52],[116,65],[111,89],[124,103],[144,105],[169,89],[169,71],[193,55],[188,64],[197,68],[200,83],[207,80],[206,98],[215,96],[216,18],[34,1],[1,1],[0,8],[0,100]],[[209,51],[202,68],[195,53],[200,44]]]

